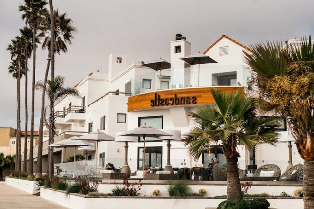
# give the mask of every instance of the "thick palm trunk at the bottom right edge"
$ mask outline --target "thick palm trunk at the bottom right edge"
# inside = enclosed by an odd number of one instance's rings
[[[304,209],[314,209],[314,160],[304,160],[303,203]]]

